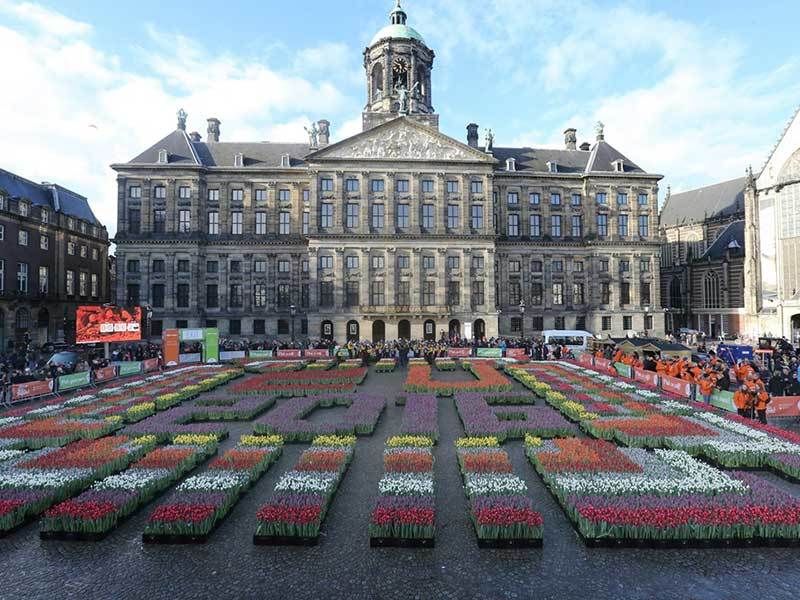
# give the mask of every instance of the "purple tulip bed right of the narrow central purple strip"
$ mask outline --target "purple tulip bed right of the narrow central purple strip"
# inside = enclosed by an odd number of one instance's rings
[[[570,436],[577,427],[546,407],[530,405],[490,406],[482,394],[459,394],[456,409],[468,436],[494,436],[500,441],[524,438]]]

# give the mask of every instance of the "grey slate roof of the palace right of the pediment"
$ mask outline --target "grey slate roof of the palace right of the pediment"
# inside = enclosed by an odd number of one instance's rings
[[[484,150],[484,148],[481,148]],[[558,164],[559,173],[606,173],[613,172],[615,160],[624,161],[625,173],[644,173],[644,170],[614,148],[605,140],[600,140],[589,151],[557,148],[503,148],[492,150],[500,161],[498,169],[506,168],[509,158],[516,160],[517,171],[547,172],[547,163]]]

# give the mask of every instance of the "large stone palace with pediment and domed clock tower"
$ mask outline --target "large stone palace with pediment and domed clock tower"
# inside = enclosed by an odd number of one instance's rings
[[[364,50],[363,131],[330,143],[175,131],[118,180],[117,300],[151,334],[433,338],[663,332],[658,182],[612,147],[439,131],[435,55],[399,3]],[[296,332],[294,328],[297,327]]]

